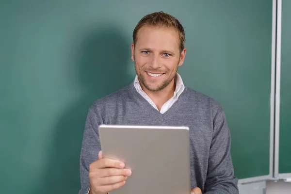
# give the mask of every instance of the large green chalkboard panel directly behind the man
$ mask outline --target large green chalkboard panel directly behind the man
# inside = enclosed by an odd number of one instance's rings
[[[161,10],[186,31],[183,81],[226,111],[236,176],[269,175],[272,0],[2,0],[0,193],[78,193],[88,108],[133,81],[132,31]]]

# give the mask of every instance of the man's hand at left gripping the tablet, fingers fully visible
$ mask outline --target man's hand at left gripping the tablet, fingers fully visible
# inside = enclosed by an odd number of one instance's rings
[[[123,162],[103,159],[101,151],[98,158],[89,166],[90,194],[107,194],[122,187],[131,175],[131,170],[124,168]]]

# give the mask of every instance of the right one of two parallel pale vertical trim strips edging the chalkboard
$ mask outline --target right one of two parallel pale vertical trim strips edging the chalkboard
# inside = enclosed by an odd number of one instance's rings
[[[280,80],[281,80],[281,19],[282,0],[277,0],[277,38],[276,38],[276,88],[275,88],[275,165],[274,177],[279,174],[279,124],[280,124]]]

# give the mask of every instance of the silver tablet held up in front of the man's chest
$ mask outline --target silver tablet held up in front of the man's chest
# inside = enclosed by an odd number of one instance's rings
[[[100,125],[99,137],[103,157],[132,171],[110,194],[190,194],[188,127]]]

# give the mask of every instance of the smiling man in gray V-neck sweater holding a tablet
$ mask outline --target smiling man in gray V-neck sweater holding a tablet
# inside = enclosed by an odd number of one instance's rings
[[[124,163],[102,158],[100,124],[188,126],[192,193],[238,194],[225,113],[212,98],[184,86],[178,66],[186,55],[185,33],[163,12],[144,16],[133,31],[136,78],[89,109],[80,159],[79,194],[107,194],[131,175]]]

